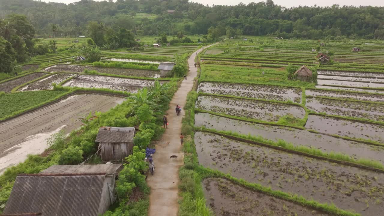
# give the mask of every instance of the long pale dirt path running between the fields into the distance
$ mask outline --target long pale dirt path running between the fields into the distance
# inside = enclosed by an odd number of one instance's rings
[[[197,50],[201,52],[202,49]],[[162,136],[161,141],[156,144],[156,153],[153,156],[156,170],[153,176],[149,175],[147,183],[151,187],[149,195],[149,216],[175,216],[179,209],[177,203],[179,183],[179,168],[183,164],[183,155],[180,145],[181,120],[184,110],[179,116],[175,114],[177,104],[184,108],[187,94],[192,90],[193,80],[197,76],[195,68],[196,52],[192,53],[188,60],[189,73],[170,101],[170,109],[167,111],[169,122],[168,129]],[[167,142],[170,142],[167,145]],[[177,155],[177,160],[169,159],[169,156]]]

